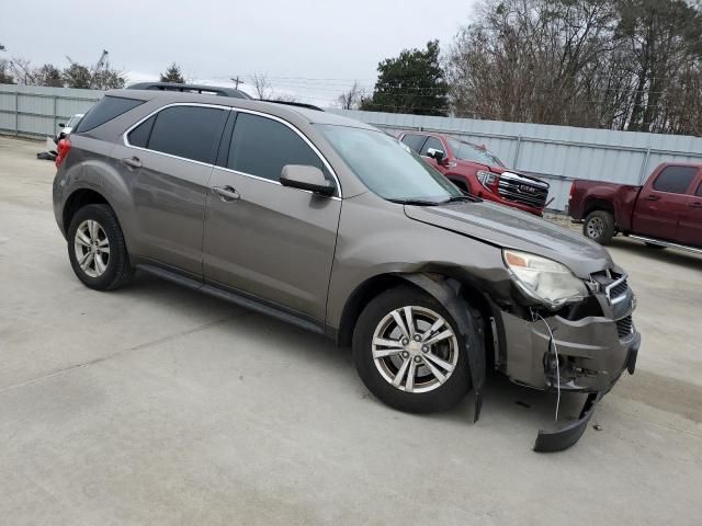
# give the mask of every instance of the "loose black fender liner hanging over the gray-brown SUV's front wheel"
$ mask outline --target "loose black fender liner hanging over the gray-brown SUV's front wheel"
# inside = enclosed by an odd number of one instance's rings
[[[485,342],[479,338],[480,328],[477,321],[469,313],[468,306],[460,296],[461,284],[452,278],[443,276],[432,278],[427,274],[399,274],[399,276],[426,290],[449,311],[458,325],[458,331],[465,343],[473,392],[475,395],[473,421],[477,422],[483,407],[480,393],[486,376]]]

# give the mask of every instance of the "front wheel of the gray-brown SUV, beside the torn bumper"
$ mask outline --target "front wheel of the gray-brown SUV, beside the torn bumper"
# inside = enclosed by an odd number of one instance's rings
[[[393,288],[367,305],[353,331],[353,361],[365,387],[400,411],[445,411],[471,387],[453,318],[412,287]]]

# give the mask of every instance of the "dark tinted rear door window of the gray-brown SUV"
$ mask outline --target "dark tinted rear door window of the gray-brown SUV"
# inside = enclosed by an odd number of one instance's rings
[[[225,110],[173,106],[158,113],[149,150],[201,162],[213,162],[227,116]]]

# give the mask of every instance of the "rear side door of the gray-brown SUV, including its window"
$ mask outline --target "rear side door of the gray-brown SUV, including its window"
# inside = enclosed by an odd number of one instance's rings
[[[220,106],[167,106],[116,147],[134,199],[137,255],[202,277],[207,181],[228,115]]]

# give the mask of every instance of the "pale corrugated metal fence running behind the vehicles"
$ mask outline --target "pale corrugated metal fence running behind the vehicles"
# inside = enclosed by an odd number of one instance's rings
[[[98,90],[0,84],[0,133],[53,136],[57,125],[84,113],[103,95]],[[641,184],[665,161],[702,162],[702,138],[540,124],[426,117],[329,110],[386,132],[421,129],[485,144],[506,164],[551,183],[550,208],[566,207],[570,181],[595,179]]]

